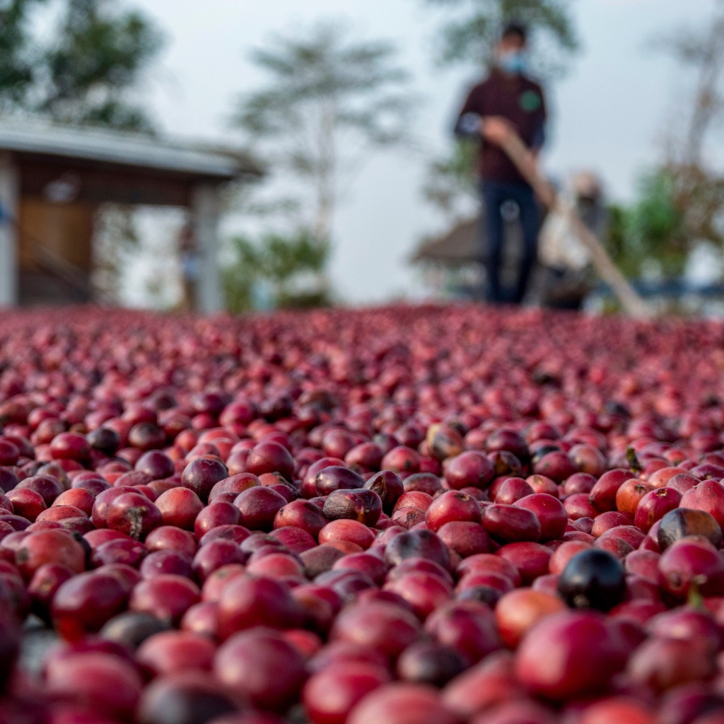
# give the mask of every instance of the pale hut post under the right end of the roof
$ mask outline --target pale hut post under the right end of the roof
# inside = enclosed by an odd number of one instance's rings
[[[223,308],[219,277],[219,189],[214,185],[198,185],[193,190],[191,213],[198,253],[198,278],[195,303],[198,311],[213,313]]]

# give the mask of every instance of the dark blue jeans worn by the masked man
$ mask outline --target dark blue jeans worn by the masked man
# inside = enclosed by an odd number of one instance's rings
[[[513,302],[520,304],[526,295],[531,271],[536,263],[538,230],[540,225],[538,204],[533,189],[524,183],[503,183],[484,181],[481,185],[485,204],[485,226],[487,230],[487,300],[494,304]],[[518,269],[518,283],[513,293],[500,287],[500,264],[505,222],[501,208],[506,201],[515,202],[523,227],[523,256]]]

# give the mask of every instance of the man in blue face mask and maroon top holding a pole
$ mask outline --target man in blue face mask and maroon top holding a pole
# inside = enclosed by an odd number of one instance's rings
[[[543,91],[526,75],[528,67],[527,30],[511,23],[500,35],[494,67],[488,77],[471,90],[455,134],[481,139],[479,174],[487,224],[487,300],[494,304],[520,304],[526,295],[536,262],[539,209],[533,189],[508,158],[501,144],[515,131],[537,156],[544,142],[546,109]],[[518,282],[512,294],[501,288],[504,224],[502,206],[513,201],[518,206],[523,227],[523,256]]]

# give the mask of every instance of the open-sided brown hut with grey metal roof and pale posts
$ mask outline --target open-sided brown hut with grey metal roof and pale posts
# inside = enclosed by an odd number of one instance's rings
[[[261,169],[233,151],[38,122],[0,122],[0,306],[92,302],[93,219],[104,203],[190,211],[196,306],[222,308],[220,193]]]

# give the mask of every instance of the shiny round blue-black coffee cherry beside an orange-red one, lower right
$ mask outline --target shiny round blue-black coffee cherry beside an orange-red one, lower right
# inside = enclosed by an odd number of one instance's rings
[[[605,550],[581,551],[563,569],[558,580],[558,593],[571,608],[610,610],[626,593],[623,565]]]

